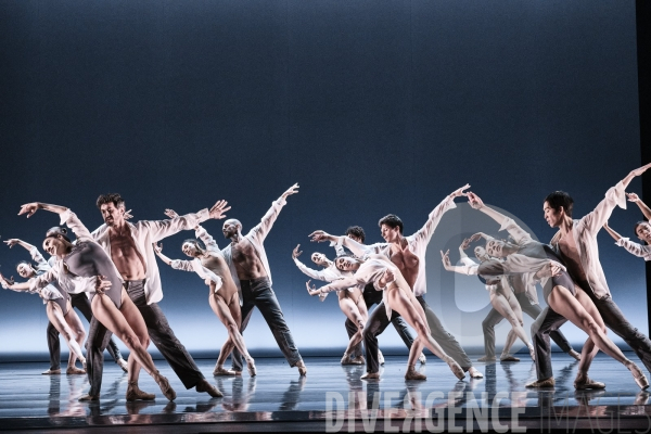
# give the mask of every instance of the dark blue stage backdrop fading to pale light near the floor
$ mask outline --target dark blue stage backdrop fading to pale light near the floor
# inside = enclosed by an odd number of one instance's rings
[[[378,218],[396,213],[411,233],[470,182],[548,240],[549,191],[571,192],[582,216],[640,165],[633,1],[2,1],[0,14],[2,239],[40,245],[56,224],[16,217],[29,201],[95,228],[94,200],[112,191],[137,219],[226,199],[247,230],[299,182],[266,242],[299,348],[346,344],[335,297],[310,298],[291,260],[297,243],[305,260],[317,248],[312,230],[357,224],[375,242]],[[434,235],[429,299],[474,346],[488,297],[438,260],[471,230],[459,216]],[[617,209],[612,226],[631,235],[639,217]],[[224,244],[220,224],[206,227]],[[186,237],[166,240],[167,255],[181,257]],[[599,237],[615,301],[647,331],[641,259]],[[2,247],[0,270],[15,275],[24,258]],[[161,268],[177,335],[216,352],[226,332],[206,288]],[[36,296],[0,292],[0,353],[44,352],[46,323]],[[259,314],[245,337],[275,348]],[[400,341],[390,330],[381,344]]]

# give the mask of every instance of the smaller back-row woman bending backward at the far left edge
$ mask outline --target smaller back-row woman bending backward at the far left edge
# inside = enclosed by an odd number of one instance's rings
[[[46,305],[48,319],[50,320],[48,328],[54,327],[56,330],[56,340],[59,340],[59,333],[61,333],[69,349],[68,366],[65,373],[68,375],[86,373],[85,369],[79,369],[75,366],[75,362],[77,359],[79,359],[79,361],[81,361],[86,368],[86,357],[84,357],[84,354],[81,353],[81,346],[84,345],[84,340],[86,339],[86,331],[84,330],[84,324],[81,324],[79,317],[71,305],[69,294],[63,291],[56,281],[51,282],[49,285],[42,289],[39,288],[33,290],[33,279],[50,270],[50,265],[40,254],[38,248],[31,244],[17,239],[7,240],[5,243],[9,244],[9,246],[18,244],[20,246],[29,251],[31,259],[36,263],[36,268],[31,263],[26,260],[21,261],[16,266],[16,271],[23,279],[29,280],[27,282],[13,283],[0,275],[2,288],[16,292],[38,293],[38,295],[40,295],[40,297],[43,299],[43,304]],[[51,346],[50,349],[52,349]],[[50,359],[52,359],[51,354]],[[50,369],[43,372],[43,374],[49,375],[61,373],[61,370],[59,370],[59,372],[53,371],[55,370],[50,367]]]

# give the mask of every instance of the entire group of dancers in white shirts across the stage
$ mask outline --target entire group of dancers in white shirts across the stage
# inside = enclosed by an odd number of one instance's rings
[[[649,382],[641,369],[627,359],[607,335],[608,327],[651,370],[651,341],[626,320],[613,302],[599,263],[597,233],[603,227],[617,245],[651,260],[651,226],[648,221],[639,221],[635,227],[636,235],[646,242],[644,245],[623,238],[608,226],[613,209],[617,205],[626,207],[626,194],[629,201],[638,204],[647,220],[651,218],[651,209],[635,193],[625,192],[631,179],[650,167],[651,164],[648,164],[630,171],[607,192],[595,210],[580,219],[572,218],[573,200],[567,193],[557,191],[549,194],[544,201],[545,219],[552,228],[559,229],[549,244],[535,241],[513,219],[486,206],[477,194],[468,191],[470,186],[465,184],[447,195],[430,213],[425,225],[410,237],[404,235],[403,221],[390,214],[379,221],[383,243],[366,245],[366,233],[358,226],[348,228],[341,237],[317,230],[310,234],[311,240],[329,241],[335,247],[334,260],[315,253],[311,259],[322,269],[308,268],[298,259],[302,254],[299,245],[292,252],[292,257],[298,269],[310,278],[306,283],[310,295],[323,299],[328,293],[337,292],[348,334],[348,345],[341,362],[366,363],[367,372],[362,379],[380,378],[380,366],[384,360],[378,336],[390,322],[409,348],[406,380],[426,379],[416,369],[417,362],[426,361],[422,353],[424,348],[444,360],[458,379],[463,379],[465,373],[481,378],[483,374],[473,367],[459,342],[445,330],[424,298],[427,245],[444,214],[456,207],[456,199],[464,196],[474,209],[493,218],[500,226],[500,231],[509,233],[507,240],[484,232],[463,240],[459,247],[461,265],[452,265],[449,251],[441,252],[446,270],[476,275],[488,291],[493,309],[483,323],[486,355],[480,361],[496,360],[494,328],[506,318],[511,331],[500,360],[519,360],[511,354],[511,348],[520,339],[528,348],[537,370],[537,380],[527,386],[554,385],[551,337],[564,352],[580,360],[574,382],[577,390],[605,387],[604,383],[588,376],[590,363],[599,349],[623,363],[636,383],[647,388]],[[288,196],[297,192],[298,184],[288,189],[272,203],[260,224],[245,235],[239,220],[225,220],[222,233],[230,243],[222,250],[201,224],[210,218],[225,219],[225,213],[230,209],[226,201],[218,201],[209,209],[182,216],[167,209],[168,219],[132,224],[128,221],[131,216],[120,195],[103,194],[97,206],[104,225],[93,232],[64,206],[39,202],[23,205],[20,215],[30,217],[38,209],[44,209],[59,214],[61,225],[67,227],[53,227],[46,232],[42,247],[51,255],[50,260],[44,260],[38,248],[25,241],[5,241],[10,247],[20,245],[29,251],[34,260],[34,264],[20,263],[16,268],[27,281],[16,283],[0,275],[0,283],[5,289],[38,293],[46,304],[50,320],[47,334],[51,366],[43,373],[61,373],[61,334],[71,350],[66,373],[87,373],[89,379],[90,391],[80,400],[100,398],[104,349],[108,349],[114,360],[128,372],[127,400],[155,397],[138,386],[141,368],[152,375],[162,393],[174,400],[175,391],[146,352],[151,340],[187,388],[194,387],[213,397],[222,396],[204,378],[157,305],[163,298],[155,259],[158,256],[174,269],[195,272],[208,286],[208,304],[228,333],[214,375],[241,374],[244,361],[248,374],[257,374],[243,337],[254,307],[260,310],[290,366],[298,368],[301,375],[306,375],[307,368],[271,289],[271,271],[264,247],[264,241]],[[74,242],[68,229],[75,234]],[[163,254],[161,240],[181,230],[195,231],[195,239],[186,240],[181,245],[182,253],[191,258],[189,260],[170,259]],[[473,251],[478,261],[465,254],[473,243],[476,244]],[[311,279],[327,284],[317,289]],[[537,284],[544,289],[548,305],[545,309],[538,306]],[[370,311],[373,305],[376,307]],[[81,350],[86,332],[73,307],[77,307],[90,322],[86,357]],[[531,331],[533,341],[524,330],[523,311],[536,318]],[[580,354],[558,330],[567,320],[588,334]],[[413,329],[416,336],[407,324]],[[129,349],[128,361],[122,358],[112,334]],[[229,356],[230,369],[225,368]],[[81,369],[76,366],[77,360],[81,362]]]

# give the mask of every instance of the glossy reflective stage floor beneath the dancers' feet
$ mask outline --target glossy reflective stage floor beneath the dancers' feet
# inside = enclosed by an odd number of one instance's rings
[[[484,379],[457,381],[434,356],[420,371],[426,381],[405,381],[405,356],[386,357],[380,381],[361,381],[365,367],[342,367],[339,358],[308,357],[307,378],[281,358],[256,359],[258,375],[212,376],[214,360],[196,360],[225,394],[212,399],[186,391],[164,360],[156,360],[175,390],[165,399],[144,372],[140,387],[154,401],[127,403],[127,375],[106,361],[101,400],[77,401],[88,391],[86,375],[41,375],[44,362],[0,363],[0,430],[20,432],[186,433],[225,431],[421,431],[647,432],[651,429],[649,394],[640,392],[622,365],[600,354],[590,378],[605,391],[575,392],[577,362],[553,354],[556,387],[526,390],[534,363],[480,363]],[[634,354],[627,357],[638,362]],[[476,357],[473,357],[475,359]],[[648,372],[646,372],[649,375]]]

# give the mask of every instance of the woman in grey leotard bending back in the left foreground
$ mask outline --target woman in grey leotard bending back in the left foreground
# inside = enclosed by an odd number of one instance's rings
[[[27,217],[30,217],[38,209],[59,214],[61,224],[65,224],[73,230],[77,242],[73,245],[66,235],[65,228],[50,229],[43,241],[43,250],[50,255],[56,256],[58,261],[49,271],[34,278],[31,288],[34,290],[44,288],[58,280],[60,286],[69,293],[92,293],[90,305],[93,317],[115,333],[129,348],[131,354],[129,357],[129,384],[135,384],[137,387],[139,369],[135,369],[135,367],[142,366],[158,384],[163,395],[167,399],[174,400],[176,393],[167,379],[161,375],[152,357],[146,352],[149,335],[142,315],[124,291],[123,281],[108,255],[93,241],[77,215],[64,206],[34,202],[23,205],[18,215],[27,214]],[[127,390],[128,398],[129,391]],[[84,400],[91,399],[99,399],[99,396],[89,396]]]

